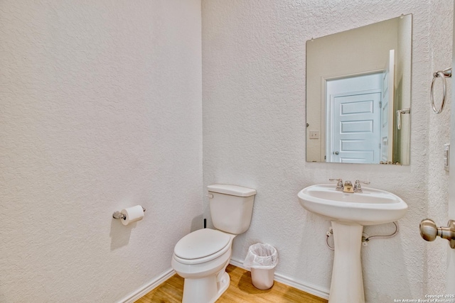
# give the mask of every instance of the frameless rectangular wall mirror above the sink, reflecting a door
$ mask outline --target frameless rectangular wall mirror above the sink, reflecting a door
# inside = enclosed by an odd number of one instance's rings
[[[412,15],[306,41],[306,161],[410,164]]]

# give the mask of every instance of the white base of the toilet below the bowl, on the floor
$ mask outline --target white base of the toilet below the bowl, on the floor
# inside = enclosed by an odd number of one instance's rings
[[[199,279],[185,279],[182,303],[214,303],[221,294],[228,290],[230,284],[228,272],[224,271],[220,279],[217,279],[217,276],[210,275]]]

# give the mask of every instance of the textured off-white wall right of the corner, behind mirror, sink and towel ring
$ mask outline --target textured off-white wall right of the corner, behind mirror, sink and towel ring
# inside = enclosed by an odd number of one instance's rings
[[[418,230],[421,219],[446,207],[441,145],[449,138],[449,116],[434,116],[428,100],[434,65],[450,62],[451,43],[439,58],[434,53],[441,41],[451,41],[453,4],[434,2],[444,1],[203,1],[203,183],[257,189],[252,225],[235,238],[233,258],[245,258],[252,243],[270,243],[279,251],[277,273],[328,291],[330,222],[302,209],[296,194],[329,177],[369,180],[405,199],[409,211],[395,238],[362,249],[367,301],[443,292],[436,280],[444,277],[445,265],[434,267],[427,253],[434,243],[425,243]],[[305,162],[306,40],[402,13],[414,14],[411,165]],[[392,229],[388,224],[365,231]]]

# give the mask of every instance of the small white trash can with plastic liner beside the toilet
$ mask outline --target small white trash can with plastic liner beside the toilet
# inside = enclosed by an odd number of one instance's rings
[[[243,266],[251,269],[251,281],[259,290],[273,286],[275,267],[278,264],[277,250],[267,243],[256,243],[248,248]]]

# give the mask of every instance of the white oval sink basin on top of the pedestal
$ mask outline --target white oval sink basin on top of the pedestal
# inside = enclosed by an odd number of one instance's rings
[[[397,221],[407,204],[385,190],[362,187],[363,192],[338,192],[333,184],[316,184],[302,189],[299,202],[304,209],[331,221],[363,226]]]

